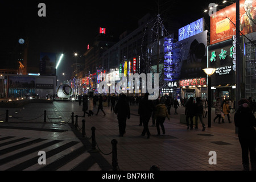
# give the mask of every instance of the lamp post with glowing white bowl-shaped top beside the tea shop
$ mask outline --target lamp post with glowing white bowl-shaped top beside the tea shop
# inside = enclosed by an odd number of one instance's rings
[[[210,76],[216,71],[216,68],[205,68],[204,72],[208,75],[208,127],[212,126],[212,78]]]

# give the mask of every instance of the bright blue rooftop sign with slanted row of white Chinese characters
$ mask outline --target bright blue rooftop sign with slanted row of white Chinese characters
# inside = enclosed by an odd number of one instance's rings
[[[193,35],[200,34],[204,31],[204,18],[188,24],[179,29],[179,41],[190,38]]]

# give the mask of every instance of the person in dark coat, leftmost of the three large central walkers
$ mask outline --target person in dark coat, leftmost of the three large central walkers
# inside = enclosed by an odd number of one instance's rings
[[[122,94],[115,105],[114,113],[117,115],[118,127],[119,127],[119,137],[123,137],[126,133],[126,119],[130,119],[130,106],[126,101],[126,95]]]

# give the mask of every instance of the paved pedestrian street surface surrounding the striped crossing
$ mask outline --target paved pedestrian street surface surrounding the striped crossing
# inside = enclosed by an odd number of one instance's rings
[[[106,160],[103,170],[112,164],[112,140],[117,140],[118,166],[121,171],[148,171],[152,165],[158,165],[161,171],[241,171],[241,147],[235,132],[234,122],[213,123],[212,127],[201,131],[187,130],[187,126],[180,123],[180,114],[174,115],[171,109],[171,119],[164,122],[165,135],[156,135],[156,127],[151,126],[151,137],[142,137],[143,126],[139,126],[138,106],[130,106],[131,118],[127,119],[126,134],[118,137],[118,121],[116,115],[105,106],[103,113],[91,117],[82,116],[82,105],[72,101],[55,101],[53,104],[28,104],[22,108],[7,108],[9,122],[5,122],[6,108],[0,109],[0,138],[2,137],[28,137],[45,139],[63,139],[67,141],[86,140],[92,142],[92,127],[95,127],[97,156]],[[44,123],[44,110],[47,111],[47,122]],[[82,132],[82,119],[85,119],[84,139],[77,138],[77,131],[71,129],[71,113],[78,115],[78,131]],[[94,114],[97,108],[93,109]],[[184,113],[184,107],[179,107],[178,113]],[[215,116],[214,109],[212,118]],[[36,119],[34,119],[36,118]],[[232,114],[233,121],[233,114]],[[204,118],[207,125],[207,118]],[[38,129],[38,130],[36,130]],[[63,132],[54,132],[52,130]],[[88,147],[88,146],[87,146]],[[1,149],[1,148],[0,148]],[[72,149],[71,149],[72,150]],[[210,151],[217,154],[217,164],[209,164]],[[93,158],[97,158],[93,156]],[[2,158],[0,158],[2,159]],[[52,159],[55,160],[55,159]],[[108,164],[107,164],[108,163]],[[79,162],[77,162],[79,164]],[[14,165],[14,164],[13,164]],[[75,166],[75,164],[73,164]],[[5,166],[5,165],[3,165]],[[0,170],[5,170],[0,164]],[[64,168],[63,168],[64,169]],[[36,170],[36,168],[30,168]],[[60,169],[61,170],[61,169]],[[100,160],[89,170],[102,170]]]

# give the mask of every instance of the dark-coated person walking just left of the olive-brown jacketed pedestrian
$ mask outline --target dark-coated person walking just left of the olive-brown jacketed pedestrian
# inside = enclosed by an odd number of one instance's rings
[[[148,122],[152,117],[153,102],[151,100],[148,100],[148,95],[149,95],[148,93],[144,94],[143,100],[139,103],[138,113],[141,116],[142,123],[143,123],[143,131],[141,135],[144,136],[147,133],[147,138],[150,138]]]

